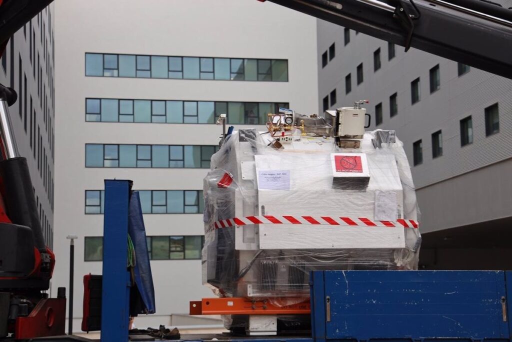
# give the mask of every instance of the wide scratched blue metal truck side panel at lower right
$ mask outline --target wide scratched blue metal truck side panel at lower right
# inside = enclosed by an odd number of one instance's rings
[[[325,271],[324,281],[327,339],[510,337],[504,272]]]

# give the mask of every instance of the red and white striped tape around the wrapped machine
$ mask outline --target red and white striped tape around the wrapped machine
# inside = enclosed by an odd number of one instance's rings
[[[326,226],[359,226],[359,227],[400,227],[418,228],[418,222],[411,219],[396,221],[376,221],[366,217],[333,217],[333,216],[245,216],[233,217],[214,222],[211,229],[228,228],[246,225],[326,225]]]

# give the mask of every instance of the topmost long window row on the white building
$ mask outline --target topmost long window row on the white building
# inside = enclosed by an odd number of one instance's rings
[[[86,76],[288,82],[288,61],[86,53]]]

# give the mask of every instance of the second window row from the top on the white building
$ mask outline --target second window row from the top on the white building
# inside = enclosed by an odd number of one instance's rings
[[[229,124],[263,125],[267,114],[278,112],[279,107],[288,108],[289,104],[87,98],[86,121],[215,124],[217,116],[224,113]]]

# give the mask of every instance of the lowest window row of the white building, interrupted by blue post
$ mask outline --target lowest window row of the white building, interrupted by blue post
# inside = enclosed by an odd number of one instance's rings
[[[146,245],[151,260],[199,260],[204,236],[146,236]],[[103,237],[86,236],[84,261],[101,261],[102,259]]]

